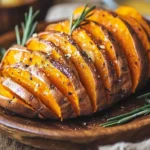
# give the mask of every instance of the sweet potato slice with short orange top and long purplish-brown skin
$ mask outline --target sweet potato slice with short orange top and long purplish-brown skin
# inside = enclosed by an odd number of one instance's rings
[[[46,40],[30,38],[26,46],[31,51],[43,51],[50,55],[51,63],[73,83],[72,85],[74,86],[77,95],[76,99],[79,101],[80,115],[90,114],[92,112],[90,99],[88,98],[85,88],[81,84],[77,71],[70,59],[67,57],[65,59],[63,53],[53,43]]]

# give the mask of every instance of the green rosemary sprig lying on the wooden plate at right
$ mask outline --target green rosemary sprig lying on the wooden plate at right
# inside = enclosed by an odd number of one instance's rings
[[[146,94],[138,96],[137,98],[145,99],[146,105],[144,105],[140,108],[137,108],[135,110],[132,110],[128,113],[125,113],[123,115],[119,115],[119,116],[107,119],[107,122],[101,124],[100,126],[111,127],[111,126],[115,126],[115,125],[120,125],[120,124],[127,123],[127,122],[135,119],[136,117],[150,114],[150,99],[149,99],[149,97],[150,97],[150,93],[146,93]]]

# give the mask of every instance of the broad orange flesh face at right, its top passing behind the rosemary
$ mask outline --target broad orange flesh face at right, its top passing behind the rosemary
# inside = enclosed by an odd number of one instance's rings
[[[75,17],[79,16],[83,9],[84,7],[77,8],[74,11]],[[129,29],[121,19],[113,16],[110,12],[101,9],[94,10],[93,15],[89,17],[89,20],[93,20],[104,25],[121,43],[120,45],[123,47],[126,54],[129,69],[131,71],[132,92],[135,92],[140,84],[140,78],[142,76],[142,60],[140,60],[135,49],[135,43]]]

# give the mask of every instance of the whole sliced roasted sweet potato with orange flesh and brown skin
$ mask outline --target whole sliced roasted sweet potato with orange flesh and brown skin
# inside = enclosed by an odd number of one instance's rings
[[[6,52],[1,107],[25,117],[63,120],[105,109],[145,85],[148,22],[130,7],[117,13],[93,9],[82,20],[85,11],[77,8],[71,22],[50,24],[24,47]]]

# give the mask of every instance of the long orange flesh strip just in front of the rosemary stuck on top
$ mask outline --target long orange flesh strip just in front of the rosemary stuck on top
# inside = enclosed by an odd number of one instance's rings
[[[71,44],[68,40],[64,39],[63,37],[57,35],[57,34],[49,34],[49,32],[43,32],[39,35],[40,38],[49,40],[53,42],[55,45],[59,46],[64,54],[69,54],[70,59],[74,63],[81,82],[83,83],[85,89],[87,90],[87,93],[89,94],[90,99],[92,100],[92,106],[94,111],[97,110],[96,105],[96,89],[94,85],[94,79],[93,75],[91,73],[91,70],[89,69],[87,63],[77,50],[77,48]],[[60,42],[61,41],[61,42]]]

